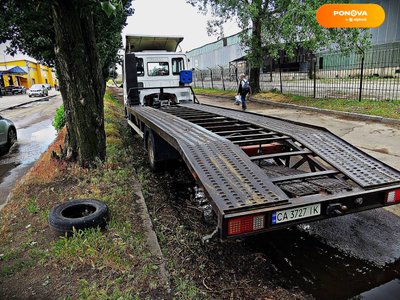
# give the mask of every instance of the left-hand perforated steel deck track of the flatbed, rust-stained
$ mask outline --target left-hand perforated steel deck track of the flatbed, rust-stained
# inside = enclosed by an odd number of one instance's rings
[[[227,139],[160,109],[131,109],[153,130],[167,135],[222,213],[289,202],[287,195]]]

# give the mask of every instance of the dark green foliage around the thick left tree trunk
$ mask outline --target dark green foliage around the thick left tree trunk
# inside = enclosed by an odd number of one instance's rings
[[[109,68],[121,61],[118,50],[122,47],[121,31],[126,18],[133,14],[132,0],[90,0],[80,3],[82,13],[93,12],[97,51],[103,70],[108,77]],[[55,31],[52,6],[56,1],[0,0],[0,43],[9,40],[10,54],[26,53],[41,63],[55,64]]]

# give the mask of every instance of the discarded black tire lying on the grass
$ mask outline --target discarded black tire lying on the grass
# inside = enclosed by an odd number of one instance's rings
[[[105,228],[108,221],[108,207],[95,199],[72,200],[57,205],[49,214],[50,226],[60,234],[70,234],[85,228]]]

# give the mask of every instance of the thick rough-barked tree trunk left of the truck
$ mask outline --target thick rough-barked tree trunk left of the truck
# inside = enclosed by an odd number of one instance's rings
[[[105,82],[97,54],[89,0],[52,3],[56,69],[67,134],[63,157],[90,167],[106,156]]]

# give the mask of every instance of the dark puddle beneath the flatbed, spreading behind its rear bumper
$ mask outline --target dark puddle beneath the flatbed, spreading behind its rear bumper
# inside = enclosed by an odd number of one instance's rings
[[[194,186],[170,171],[171,199],[188,199]],[[179,214],[179,212],[178,212]],[[375,228],[373,228],[375,227]],[[244,239],[263,253],[269,276],[315,299],[400,299],[400,222],[376,209]],[[269,280],[269,279],[266,279]]]

